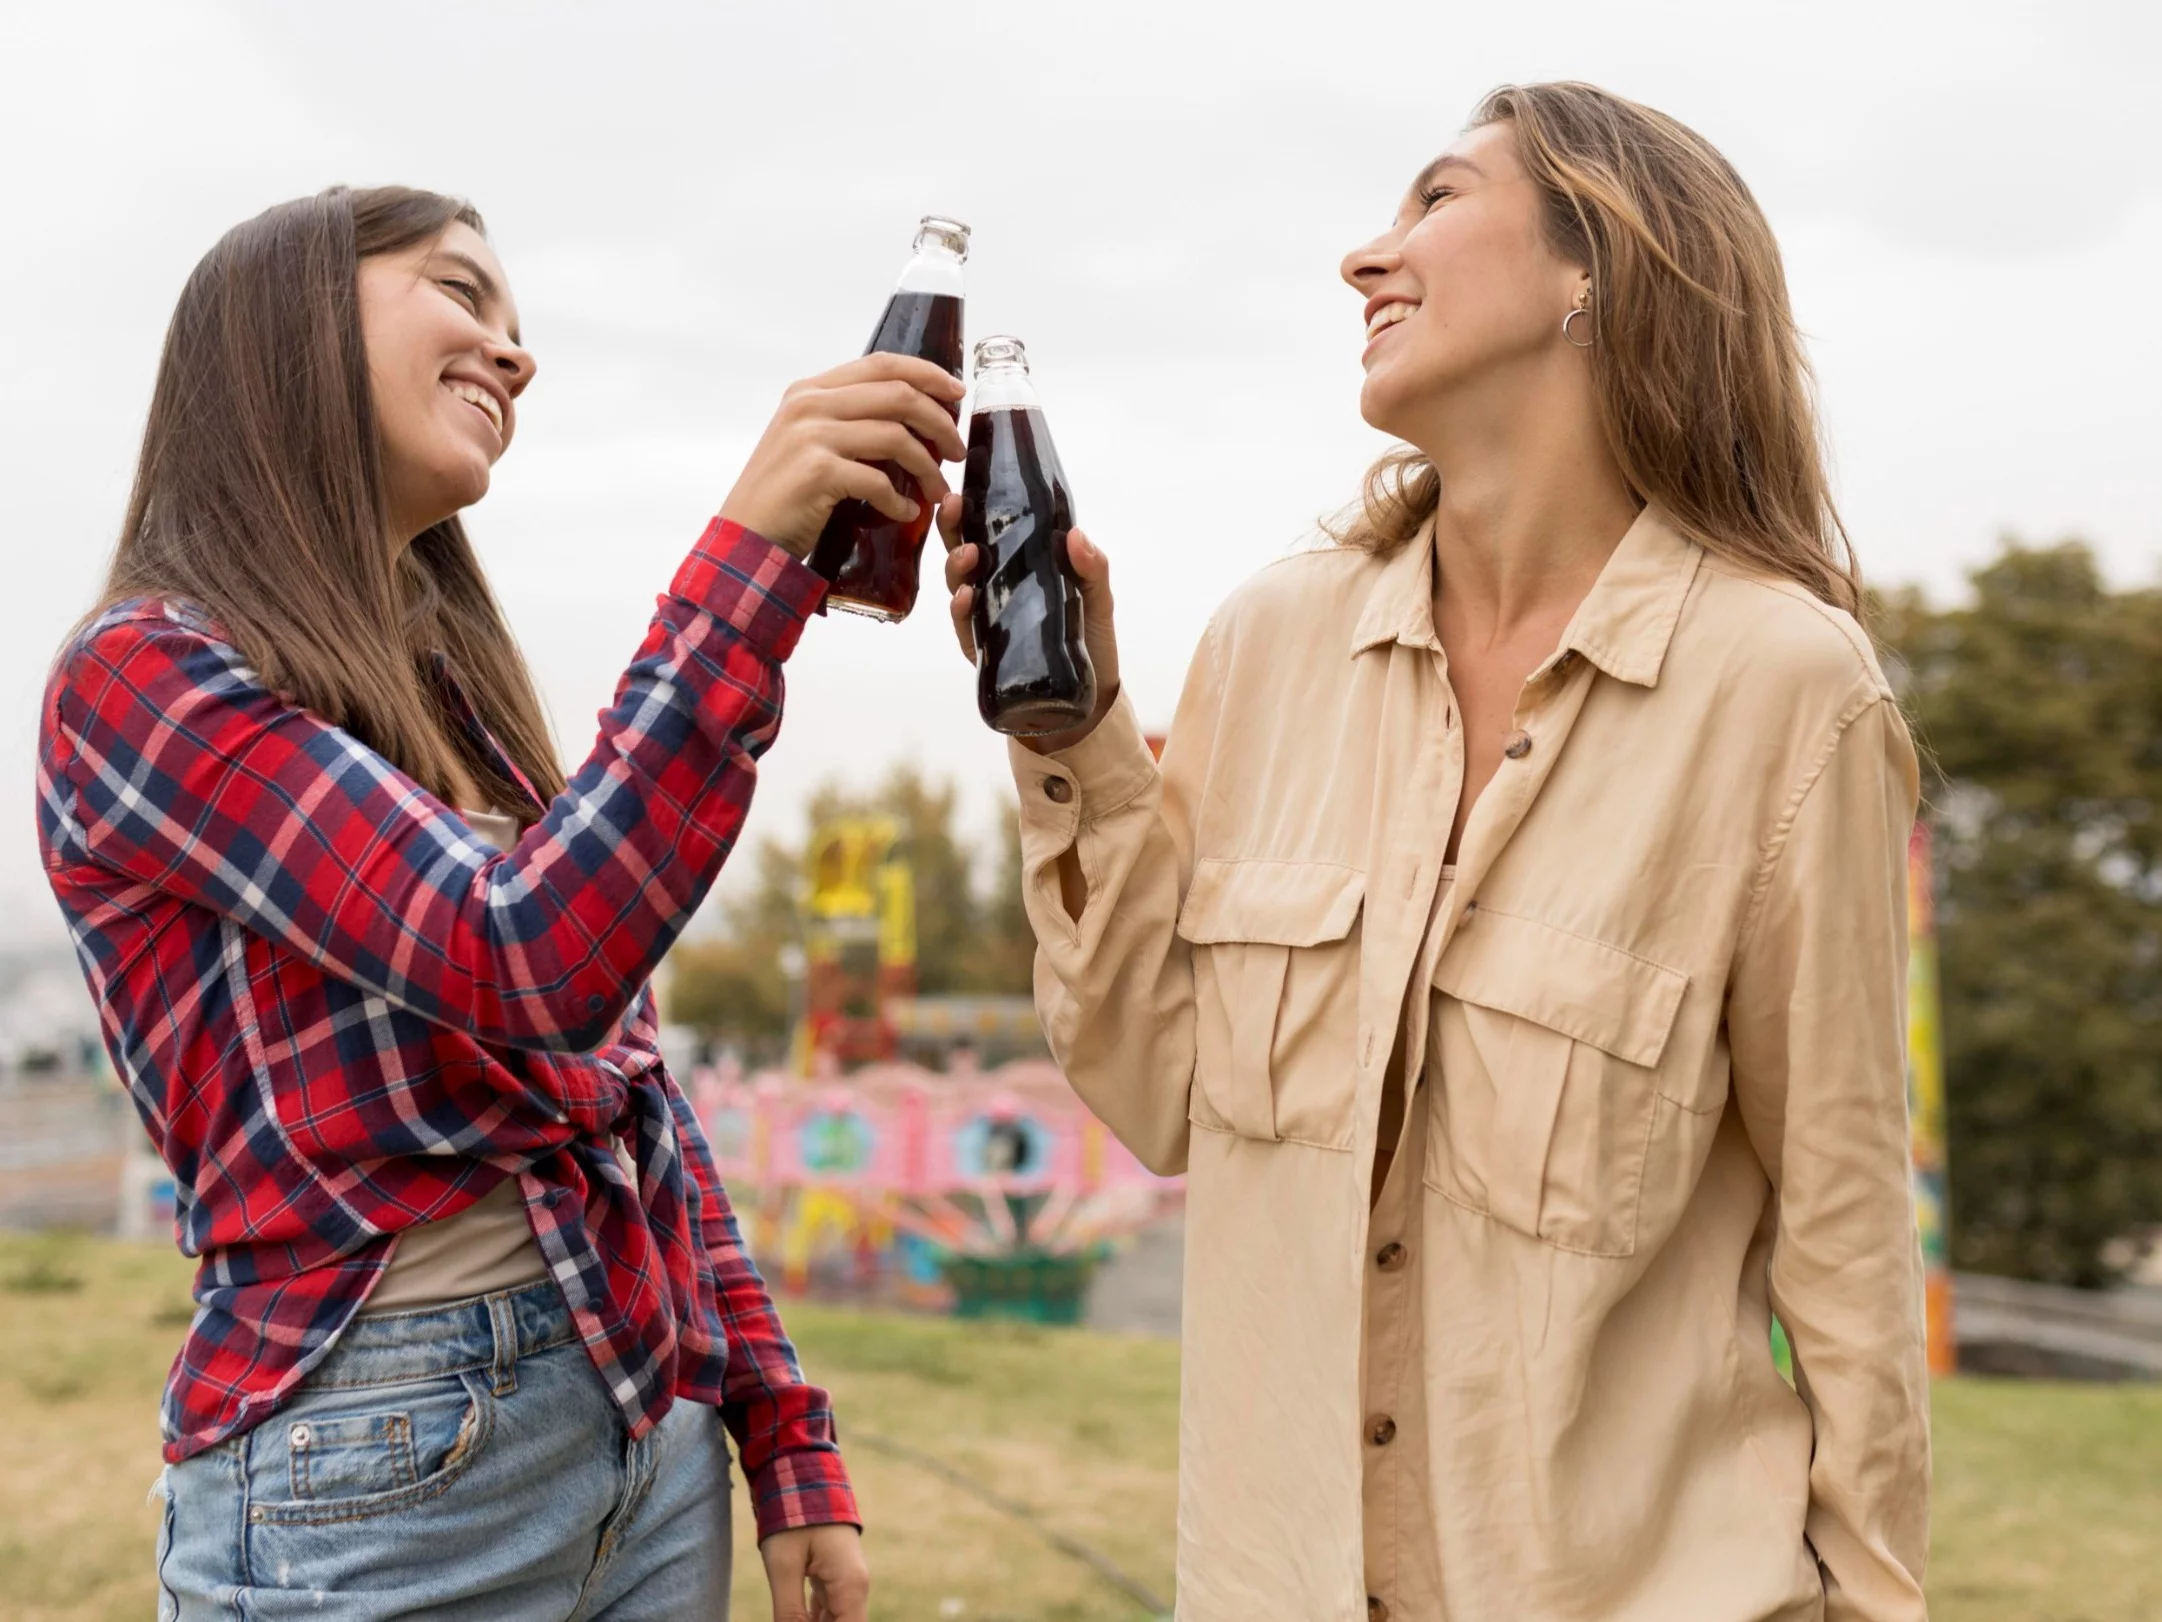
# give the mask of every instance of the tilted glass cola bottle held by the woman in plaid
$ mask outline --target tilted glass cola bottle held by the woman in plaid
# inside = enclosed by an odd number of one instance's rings
[[[960,268],[966,260],[969,227],[925,214],[915,257],[902,268],[886,314],[863,353],[915,355],[960,376]],[[811,567],[830,582],[826,601],[832,608],[902,621],[917,606],[917,558],[932,526],[932,506],[895,463],[878,463],[878,469],[917,502],[917,517],[899,523],[867,502],[841,502],[811,549]]]

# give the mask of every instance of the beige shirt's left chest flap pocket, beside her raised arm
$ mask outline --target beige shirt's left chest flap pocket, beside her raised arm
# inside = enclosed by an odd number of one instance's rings
[[[1351,1144],[1364,895],[1366,874],[1336,863],[1196,863],[1178,910],[1193,947],[1196,1122]]]

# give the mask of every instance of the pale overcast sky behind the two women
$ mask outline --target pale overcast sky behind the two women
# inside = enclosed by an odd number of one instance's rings
[[[6,4],[0,13],[0,943],[58,939],[37,694],[125,502],[158,342],[236,221],[333,182],[471,197],[540,376],[469,515],[569,759],[780,389],[854,355],[919,214],[975,227],[1126,681],[1167,716],[1211,608],[1379,448],[1336,281],[1505,80],[1710,136],[1786,251],[1866,571],[1939,593],[2000,534],[2162,562],[2162,69],[2140,0],[1537,6]],[[936,599],[822,621],[750,837],[895,759],[988,828],[1003,755]]]

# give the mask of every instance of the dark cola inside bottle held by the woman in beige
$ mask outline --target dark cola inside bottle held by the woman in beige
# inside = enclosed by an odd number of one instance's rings
[[[1066,558],[1072,491],[1036,409],[977,411],[960,536],[975,545],[975,707],[1001,733],[1062,733],[1096,712],[1081,582]]]

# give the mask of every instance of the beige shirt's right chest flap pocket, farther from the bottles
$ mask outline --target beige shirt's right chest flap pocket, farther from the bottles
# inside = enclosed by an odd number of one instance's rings
[[[1427,1183],[1557,1248],[1634,1254],[1686,988],[1604,941],[1477,913],[1433,971]]]

